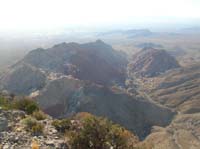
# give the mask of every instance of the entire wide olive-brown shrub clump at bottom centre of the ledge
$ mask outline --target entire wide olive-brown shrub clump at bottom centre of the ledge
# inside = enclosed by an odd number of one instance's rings
[[[130,149],[129,142],[137,143],[137,138],[127,132],[105,118],[91,116],[83,121],[80,131],[70,133],[70,145],[76,149]]]

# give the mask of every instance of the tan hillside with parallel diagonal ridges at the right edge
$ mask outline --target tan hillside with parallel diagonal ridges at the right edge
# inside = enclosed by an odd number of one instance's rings
[[[181,113],[200,112],[200,64],[174,70],[155,78],[149,93],[156,102]],[[147,89],[148,90],[148,89]]]

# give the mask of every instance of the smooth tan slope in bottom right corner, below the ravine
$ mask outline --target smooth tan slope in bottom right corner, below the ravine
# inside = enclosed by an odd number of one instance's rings
[[[153,132],[144,142],[155,149],[199,149],[200,114],[178,115],[168,127]]]

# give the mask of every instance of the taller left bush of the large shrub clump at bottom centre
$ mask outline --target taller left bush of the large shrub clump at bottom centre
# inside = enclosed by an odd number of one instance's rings
[[[80,132],[71,134],[71,146],[76,149],[100,149],[109,148],[106,141],[108,127],[105,121],[100,121],[94,117],[87,118],[83,123]]]

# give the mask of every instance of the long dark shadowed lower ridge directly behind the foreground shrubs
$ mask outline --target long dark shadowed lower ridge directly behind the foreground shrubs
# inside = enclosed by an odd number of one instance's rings
[[[142,97],[69,77],[51,81],[36,98],[41,107],[54,117],[89,112],[110,118],[140,138],[148,135],[153,125],[169,124],[175,114]]]

